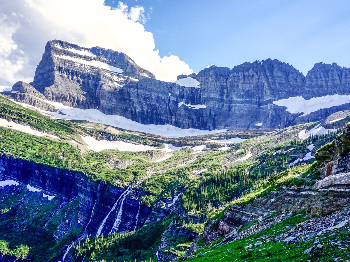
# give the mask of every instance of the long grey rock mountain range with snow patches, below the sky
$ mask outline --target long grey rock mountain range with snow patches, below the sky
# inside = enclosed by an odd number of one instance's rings
[[[124,53],[60,40],[47,43],[30,85],[49,101],[182,129],[280,129],[350,108],[350,68],[335,63],[317,63],[304,77],[266,59],[232,69],[211,66],[168,83]],[[33,97],[4,94],[38,105]]]

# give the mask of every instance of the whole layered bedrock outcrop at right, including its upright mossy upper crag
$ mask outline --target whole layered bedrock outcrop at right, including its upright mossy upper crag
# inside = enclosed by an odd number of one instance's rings
[[[350,126],[346,125],[336,139],[315,154],[320,179],[311,187],[282,187],[245,206],[229,206],[222,219],[209,220],[203,239],[207,244],[234,234],[239,227],[261,220],[276,211],[307,211],[328,214],[349,206],[350,199]]]

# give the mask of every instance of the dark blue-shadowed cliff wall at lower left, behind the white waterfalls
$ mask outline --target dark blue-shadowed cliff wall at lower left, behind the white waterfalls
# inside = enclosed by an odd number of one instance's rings
[[[21,159],[8,158],[5,155],[0,157],[0,174],[1,181],[12,179],[27,183],[47,195],[59,196],[67,202],[78,199],[78,219],[81,225],[86,227],[85,235],[96,235],[102,221],[124,191],[123,188],[92,181],[79,172],[41,166]],[[140,205],[139,197],[138,192],[131,192],[126,197],[120,232],[133,231],[135,227],[141,227],[151,213],[151,208]],[[106,219],[102,234],[110,232],[116,220],[117,210],[111,212]]]

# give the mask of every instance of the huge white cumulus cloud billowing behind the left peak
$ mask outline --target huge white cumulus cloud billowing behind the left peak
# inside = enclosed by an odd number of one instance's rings
[[[163,81],[193,73],[179,57],[159,56],[152,33],[143,26],[148,19],[144,7],[123,2],[111,8],[104,0],[0,1],[0,89],[31,81],[52,39],[124,52]]]

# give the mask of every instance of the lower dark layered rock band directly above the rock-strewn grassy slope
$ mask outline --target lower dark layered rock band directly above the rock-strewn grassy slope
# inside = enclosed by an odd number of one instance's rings
[[[203,239],[209,245],[214,240],[235,235],[238,228],[247,226],[255,220],[271,215],[276,211],[327,214],[346,208],[349,205],[350,191],[301,187],[272,191],[265,197],[256,198],[246,206],[232,205],[226,209],[222,219],[209,220],[205,225]]]

